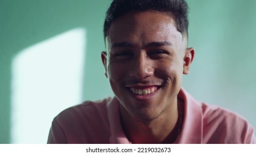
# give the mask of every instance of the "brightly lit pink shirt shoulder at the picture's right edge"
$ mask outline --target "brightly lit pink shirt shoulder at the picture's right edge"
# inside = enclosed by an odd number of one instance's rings
[[[203,137],[206,143],[253,143],[254,130],[235,112],[202,103]]]

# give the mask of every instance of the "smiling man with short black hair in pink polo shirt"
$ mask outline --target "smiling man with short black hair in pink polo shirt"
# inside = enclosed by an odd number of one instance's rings
[[[181,88],[194,57],[187,29],[183,0],[114,0],[101,59],[115,97],[60,113],[48,143],[255,143],[242,117]]]

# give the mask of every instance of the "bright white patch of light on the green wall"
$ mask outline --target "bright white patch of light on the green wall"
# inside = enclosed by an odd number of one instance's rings
[[[12,143],[46,143],[53,118],[82,99],[85,30],[69,30],[13,59]]]

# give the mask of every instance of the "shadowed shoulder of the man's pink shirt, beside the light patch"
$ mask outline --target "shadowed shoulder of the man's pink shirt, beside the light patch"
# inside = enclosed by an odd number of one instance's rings
[[[52,122],[48,143],[108,143],[110,100],[85,101],[60,112]]]

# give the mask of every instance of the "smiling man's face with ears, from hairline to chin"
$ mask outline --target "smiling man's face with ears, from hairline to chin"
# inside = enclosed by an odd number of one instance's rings
[[[121,112],[149,121],[177,107],[182,74],[193,49],[172,17],[158,12],[127,13],[112,22],[101,55]]]

